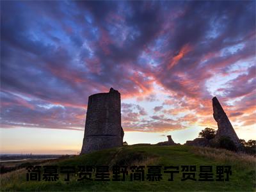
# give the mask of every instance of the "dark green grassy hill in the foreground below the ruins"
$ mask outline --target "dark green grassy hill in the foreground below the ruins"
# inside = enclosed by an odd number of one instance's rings
[[[227,150],[214,148],[178,146],[126,146],[93,152],[70,159],[52,161],[50,165],[83,166],[83,165],[159,165],[179,166],[180,173],[174,175],[174,181],[168,181],[170,173],[163,174],[160,181],[130,181],[129,174],[125,181],[77,181],[77,176],[70,175],[65,182],[65,175],[60,174],[58,181],[26,181],[26,170],[1,175],[2,191],[255,191],[255,157],[235,154]],[[182,179],[182,165],[196,165],[196,181]],[[213,178],[217,165],[230,165],[232,175],[229,181],[198,181],[199,166],[213,166]],[[110,179],[111,172],[110,173]],[[42,178],[41,178],[42,179]]]

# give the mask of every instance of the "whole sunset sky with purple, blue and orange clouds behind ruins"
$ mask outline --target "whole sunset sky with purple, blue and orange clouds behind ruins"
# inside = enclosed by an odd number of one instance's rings
[[[77,154],[88,96],[121,93],[124,141],[193,140],[216,96],[256,139],[256,1],[1,1],[0,153]]]

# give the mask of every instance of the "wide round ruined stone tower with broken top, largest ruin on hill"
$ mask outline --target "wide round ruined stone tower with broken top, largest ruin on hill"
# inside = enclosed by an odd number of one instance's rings
[[[109,93],[90,95],[81,154],[123,145],[121,127],[121,95],[111,88]]]

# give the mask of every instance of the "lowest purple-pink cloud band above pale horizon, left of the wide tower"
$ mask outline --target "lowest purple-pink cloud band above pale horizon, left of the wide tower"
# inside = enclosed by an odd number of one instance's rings
[[[38,127],[83,130],[85,109],[34,102],[12,93],[1,93],[1,127]],[[15,118],[13,118],[15,116]]]

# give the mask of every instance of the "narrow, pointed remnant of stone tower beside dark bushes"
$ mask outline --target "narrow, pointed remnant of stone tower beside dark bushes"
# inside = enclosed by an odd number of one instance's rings
[[[239,141],[234,128],[228,120],[228,116],[224,112],[220,102],[216,97],[212,98],[212,108],[214,120],[216,120],[218,124],[218,131],[216,133],[215,139],[219,139],[221,136],[228,136],[236,144],[237,147],[241,147],[241,142]]]

